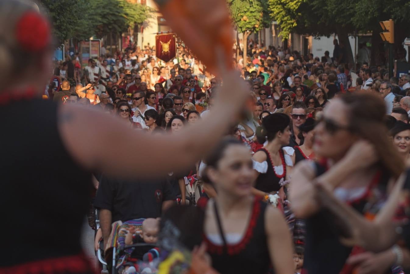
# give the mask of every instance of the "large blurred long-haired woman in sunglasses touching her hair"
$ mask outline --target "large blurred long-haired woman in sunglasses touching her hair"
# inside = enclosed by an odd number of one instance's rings
[[[348,237],[345,227],[318,204],[315,184],[373,218],[392,187],[389,180],[403,172],[403,160],[387,138],[385,111],[376,95],[356,93],[332,100],[314,129],[313,148],[321,160],[302,161],[292,173],[290,201],[295,216],[306,220],[308,273],[339,273],[353,250],[339,240]],[[368,143],[374,153],[365,153]]]

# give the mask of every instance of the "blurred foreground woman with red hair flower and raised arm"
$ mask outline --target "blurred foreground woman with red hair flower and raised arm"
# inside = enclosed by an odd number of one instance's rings
[[[116,117],[43,100],[53,48],[50,23],[35,4],[0,1],[0,122],[5,129],[0,141],[7,144],[0,160],[5,194],[0,213],[3,220],[16,224],[16,235],[24,235],[3,237],[7,251],[2,254],[0,273],[92,272],[80,244],[91,173],[131,178],[184,170],[225,134],[230,121],[220,117],[237,115],[247,95],[235,73],[219,64],[225,86],[212,113],[171,136],[148,135]],[[216,47],[212,49],[215,62],[226,58]],[[115,146],[107,145],[113,140]],[[174,161],[161,155],[174,155]],[[7,232],[9,227],[3,225],[0,233]],[[56,240],[62,235],[63,242]],[[22,248],[25,255],[16,255]]]

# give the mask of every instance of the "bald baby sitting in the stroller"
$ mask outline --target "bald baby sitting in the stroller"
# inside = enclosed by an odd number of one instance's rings
[[[158,233],[159,233],[159,219],[148,218],[142,223],[142,231],[140,234],[135,234],[137,230],[134,226],[131,226],[125,236],[125,245],[146,243],[150,244],[147,246],[135,247],[131,253],[130,260],[135,260],[136,262],[143,261],[146,267],[149,268],[149,263],[155,258],[159,257],[159,249],[154,247],[157,243]],[[154,247],[154,248],[153,248]],[[135,264],[134,264],[135,265]],[[132,263],[125,264],[124,273],[137,272],[138,269],[135,268]],[[144,273],[144,269],[141,273]],[[148,272],[149,273],[149,272]]]

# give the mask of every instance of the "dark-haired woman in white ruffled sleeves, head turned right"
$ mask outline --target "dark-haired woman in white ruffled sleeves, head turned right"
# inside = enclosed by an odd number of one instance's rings
[[[262,119],[262,127],[256,135],[262,149],[253,155],[254,168],[259,173],[254,194],[276,194],[289,179],[294,165],[294,149],[284,147],[289,144],[291,136],[290,118],[283,113],[273,113]]]

